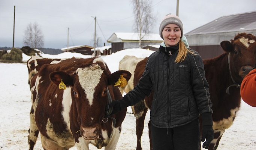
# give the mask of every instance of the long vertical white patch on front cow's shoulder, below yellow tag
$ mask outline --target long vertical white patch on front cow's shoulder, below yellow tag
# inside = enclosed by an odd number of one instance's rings
[[[64,122],[66,122],[67,124],[67,129],[69,129],[70,127],[69,112],[70,112],[71,103],[72,103],[71,87],[67,87],[66,90],[63,91],[63,100],[62,100],[62,106],[63,106],[62,116],[63,116]]]

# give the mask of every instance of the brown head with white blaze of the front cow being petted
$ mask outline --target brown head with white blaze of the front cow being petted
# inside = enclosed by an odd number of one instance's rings
[[[113,87],[120,75],[127,81],[131,77],[128,71],[111,74],[106,63],[100,58],[94,59],[92,63],[80,65],[73,74],[55,71],[49,75],[56,85],[60,84],[62,79],[67,87],[71,87],[70,124],[74,123],[78,128],[76,130],[80,129],[80,134],[86,140],[93,140],[102,134],[100,124],[108,104],[107,87],[112,99],[115,99]],[[120,94],[118,88],[115,92],[117,91]]]

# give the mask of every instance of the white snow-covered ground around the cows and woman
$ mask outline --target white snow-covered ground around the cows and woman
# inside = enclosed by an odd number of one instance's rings
[[[118,70],[119,61],[125,56],[148,57],[153,51],[144,49],[127,49],[102,57],[111,72]],[[77,53],[58,55],[43,54],[48,58],[90,57]],[[24,61],[30,57],[23,55]],[[31,108],[28,71],[25,63],[0,63],[0,150],[27,150],[29,112]],[[121,136],[117,150],[136,150],[135,116],[128,107],[126,118],[122,124]],[[142,135],[142,149],[149,150],[148,121],[150,111],[146,115]],[[40,135],[35,150],[42,150]],[[91,150],[97,150],[90,145]],[[102,148],[104,149],[104,148]],[[255,150],[256,149],[256,108],[241,101],[234,124],[226,129],[220,140],[218,150]],[[72,147],[71,150],[76,150]]]

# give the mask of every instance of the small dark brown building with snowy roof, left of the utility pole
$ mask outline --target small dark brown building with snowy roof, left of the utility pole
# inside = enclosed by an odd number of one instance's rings
[[[62,48],[61,51],[64,52],[75,52],[75,53],[81,53],[84,55],[92,55],[93,51],[91,51],[91,49],[93,49],[93,47],[91,46],[87,46],[87,45],[80,45],[80,46],[70,46],[70,47],[65,47]]]

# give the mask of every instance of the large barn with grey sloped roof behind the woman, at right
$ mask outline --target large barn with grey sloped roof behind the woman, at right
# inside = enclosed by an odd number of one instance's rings
[[[209,59],[224,51],[220,42],[234,39],[241,32],[256,34],[256,12],[222,16],[185,34],[189,46],[198,51],[202,59]]]

